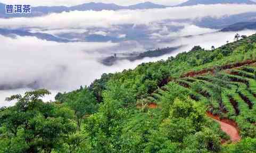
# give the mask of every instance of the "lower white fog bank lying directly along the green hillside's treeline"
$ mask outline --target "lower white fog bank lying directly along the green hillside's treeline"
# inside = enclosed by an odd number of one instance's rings
[[[234,40],[235,33],[216,32],[189,38],[177,38],[170,43],[160,43],[156,46],[161,48],[184,45],[172,54],[144,58],[134,62],[123,60],[113,66],[104,66],[97,60],[98,57],[105,54],[106,50],[113,52],[111,48],[118,47],[120,44],[55,43],[34,37],[12,39],[0,36],[2,42],[0,65],[4,65],[0,67],[0,84],[30,83],[36,80],[40,88],[50,89],[54,93],[77,89],[80,85],[89,85],[96,78],[100,78],[102,73],[120,72],[124,69],[134,69],[141,63],[167,60],[169,56],[188,51],[195,45],[207,49],[210,49],[212,45],[219,47],[224,45],[227,40]],[[255,30],[240,31],[241,35],[252,35],[253,33]],[[127,50],[134,48],[122,49],[127,53]],[[12,105],[5,102],[4,98],[13,94],[22,94],[24,90],[0,90],[0,107]],[[50,99],[54,96],[53,94]]]

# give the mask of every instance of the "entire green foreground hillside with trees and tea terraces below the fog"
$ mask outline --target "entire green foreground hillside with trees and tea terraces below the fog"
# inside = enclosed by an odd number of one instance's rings
[[[0,152],[255,152],[256,34],[235,40],[103,74],[52,103],[47,90],[7,98],[18,103],[0,109]]]

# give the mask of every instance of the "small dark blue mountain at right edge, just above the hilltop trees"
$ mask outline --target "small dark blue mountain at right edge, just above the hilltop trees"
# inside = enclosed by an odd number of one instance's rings
[[[232,25],[229,25],[228,27],[222,29],[221,31],[240,31],[244,29],[250,29],[255,30],[256,29],[256,22],[239,22]]]

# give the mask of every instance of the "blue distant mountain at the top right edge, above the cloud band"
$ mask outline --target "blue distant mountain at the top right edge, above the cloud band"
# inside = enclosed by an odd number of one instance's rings
[[[250,0],[189,0],[185,3],[181,3],[177,6],[191,6],[198,4],[256,4]]]

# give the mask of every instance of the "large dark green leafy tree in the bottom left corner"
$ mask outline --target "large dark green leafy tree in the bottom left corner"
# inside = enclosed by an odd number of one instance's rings
[[[7,98],[18,102],[0,112],[0,152],[51,152],[75,133],[73,111],[40,99],[49,94],[42,89]]]

